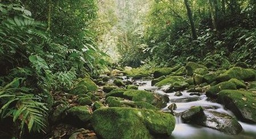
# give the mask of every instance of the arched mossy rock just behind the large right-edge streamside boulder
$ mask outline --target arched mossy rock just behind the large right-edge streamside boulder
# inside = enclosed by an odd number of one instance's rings
[[[221,82],[221,83],[218,83],[218,85],[216,85],[216,86],[210,87],[209,90],[206,92],[206,95],[211,98],[216,98],[218,92],[220,92],[221,90],[225,90],[225,89],[236,90],[237,86],[233,82],[229,82],[229,81]]]

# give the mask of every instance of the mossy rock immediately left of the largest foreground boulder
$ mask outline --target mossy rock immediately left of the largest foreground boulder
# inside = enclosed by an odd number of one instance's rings
[[[88,122],[92,116],[89,107],[87,106],[76,106],[68,109],[68,115],[77,117],[82,122]]]

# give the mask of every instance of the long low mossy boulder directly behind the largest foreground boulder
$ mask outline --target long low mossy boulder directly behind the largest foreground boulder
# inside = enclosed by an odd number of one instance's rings
[[[113,90],[106,97],[109,96],[129,99],[134,102],[147,102],[158,108],[166,107],[169,101],[167,96],[144,90]]]

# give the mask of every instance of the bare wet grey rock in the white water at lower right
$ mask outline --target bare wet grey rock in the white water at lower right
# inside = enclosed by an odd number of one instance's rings
[[[219,130],[226,134],[239,134],[242,126],[236,119],[224,113],[214,111],[204,111],[206,119],[201,121],[199,125]]]

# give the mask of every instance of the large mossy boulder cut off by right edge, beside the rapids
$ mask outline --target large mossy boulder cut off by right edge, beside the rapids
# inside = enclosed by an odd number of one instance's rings
[[[256,123],[256,94],[250,91],[222,90],[218,93],[218,103],[234,113],[238,119]]]

